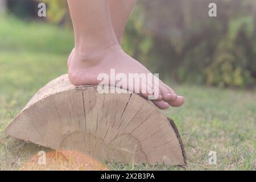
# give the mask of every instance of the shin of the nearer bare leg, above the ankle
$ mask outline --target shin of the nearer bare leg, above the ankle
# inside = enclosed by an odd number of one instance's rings
[[[107,0],[68,0],[75,31],[75,51],[92,55],[118,44],[109,13]]]

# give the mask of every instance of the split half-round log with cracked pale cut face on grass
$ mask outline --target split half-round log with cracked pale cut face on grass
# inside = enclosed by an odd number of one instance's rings
[[[110,89],[115,89],[111,87]],[[185,165],[174,122],[138,94],[98,93],[67,75],[39,90],[6,134],[54,150],[75,150],[119,163]]]

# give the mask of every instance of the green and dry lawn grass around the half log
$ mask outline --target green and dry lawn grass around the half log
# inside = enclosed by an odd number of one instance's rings
[[[39,88],[67,72],[73,35],[49,24],[5,17],[0,19],[0,38],[0,169],[12,170],[47,149],[11,138],[3,130]],[[164,113],[180,131],[188,166],[109,164],[110,169],[256,169],[256,90],[191,85],[174,89],[186,97],[185,105]],[[217,152],[216,165],[208,163],[209,151]]]

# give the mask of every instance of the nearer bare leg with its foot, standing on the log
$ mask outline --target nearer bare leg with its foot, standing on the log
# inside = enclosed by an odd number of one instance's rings
[[[132,59],[122,51],[115,36],[119,34],[119,42],[129,15],[122,15],[126,20],[115,20],[122,26],[114,30],[110,19],[108,0],[68,0],[73,27],[75,29],[75,49],[69,57],[69,78],[74,85],[98,84],[100,73],[110,75],[110,69],[116,73],[150,73],[138,61]],[[132,9],[132,8],[131,8]],[[130,10],[131,10],[130,9]],[[113,13],[112,13],[113,15]],[[147,85],[148,86],[148,85]],[[172,106],[180,106],[183,97],[177,95],[162,82],[160,93],[165,101]],[[162,96],[161,96],[162,97]],[[166,109],[166,102],[154,102],[161,109]]]

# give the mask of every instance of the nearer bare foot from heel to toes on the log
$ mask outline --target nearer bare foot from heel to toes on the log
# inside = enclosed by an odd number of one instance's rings
[[[68,59],[68,75],[73,85],[98,85],[101,82],[97,80],[98,75],[106,73],[110,77],[110,69],[115,69],[115,75],[123,73],[127,78],[129,73],[150,73],[141,63],[123,52],[118,45],[86,56],[73,49]],[[148,97],[151,94],[150,90],[154,90],[151,85],[140,85],[142,86],[147,88],[147,93],[142,93],[143,97]],[[134,92],[134,90],[130,91]],[[184,98],[177,96],[169,86],[159,80],[159,98],[152,102],[160,109],[167,109],[169,105],[174,107],[183,105]]]

